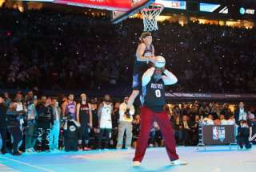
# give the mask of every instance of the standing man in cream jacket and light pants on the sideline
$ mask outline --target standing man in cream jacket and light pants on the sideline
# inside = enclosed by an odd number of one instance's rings
[[[128,97],[125,97],[124,102],[120,104],[119,107],[119,125],[118,125],[118,144],[117,148],[122,148],[122,141],[123,141],[123,135],[126,131],[126,148],[130,148],[131,145],[131,139],[132,139],[132,121],[133,121],[133,115],[134,115],[134,105],[131,105],[130,108],[128,108]]]

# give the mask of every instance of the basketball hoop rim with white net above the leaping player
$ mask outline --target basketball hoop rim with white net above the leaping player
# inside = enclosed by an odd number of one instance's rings
[[[157,19],[163,9],[162,4],[153,3],[141,10],[145,32],[158,30]]]

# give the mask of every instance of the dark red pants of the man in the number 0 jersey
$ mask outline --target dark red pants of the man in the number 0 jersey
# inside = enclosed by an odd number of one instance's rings
[[[150,108],[141,108],[141,130],[138,135],[138,144],[135,151],[134,161],[142,162],[146,147],[150,137],[150,129],[156,121],[161,129],[163,139],[165,140],[166,151],[170,158],[170,161],[178,159],[176,153],[176,143],[174,139],[174,131],[170,125],[170,121],[166,111],[154,112]]]

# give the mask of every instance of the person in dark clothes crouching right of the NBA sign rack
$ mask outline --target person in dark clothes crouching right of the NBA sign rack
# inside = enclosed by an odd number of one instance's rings
[[[238,127],[238,135],[237,135],[237,141],[239,147],[242,149],[243,146],[246,147],[246,149],[251,148],[251,144],[249,142],[250,137],[250,127],[246,120],[242,120],[240,123],[240,126]]]

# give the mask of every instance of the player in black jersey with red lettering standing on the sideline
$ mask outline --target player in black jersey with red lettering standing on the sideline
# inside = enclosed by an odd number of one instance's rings
[[[86,101],[86,94],[82,93],[80,95],[81,103],[77,105],[77,119],[78,123],[80,123],[80,139],[78,140],[78,144],[82,151],[88,151],[89,148],[89,130],[93,127],[93,119],[91,113],[90,104]]]

